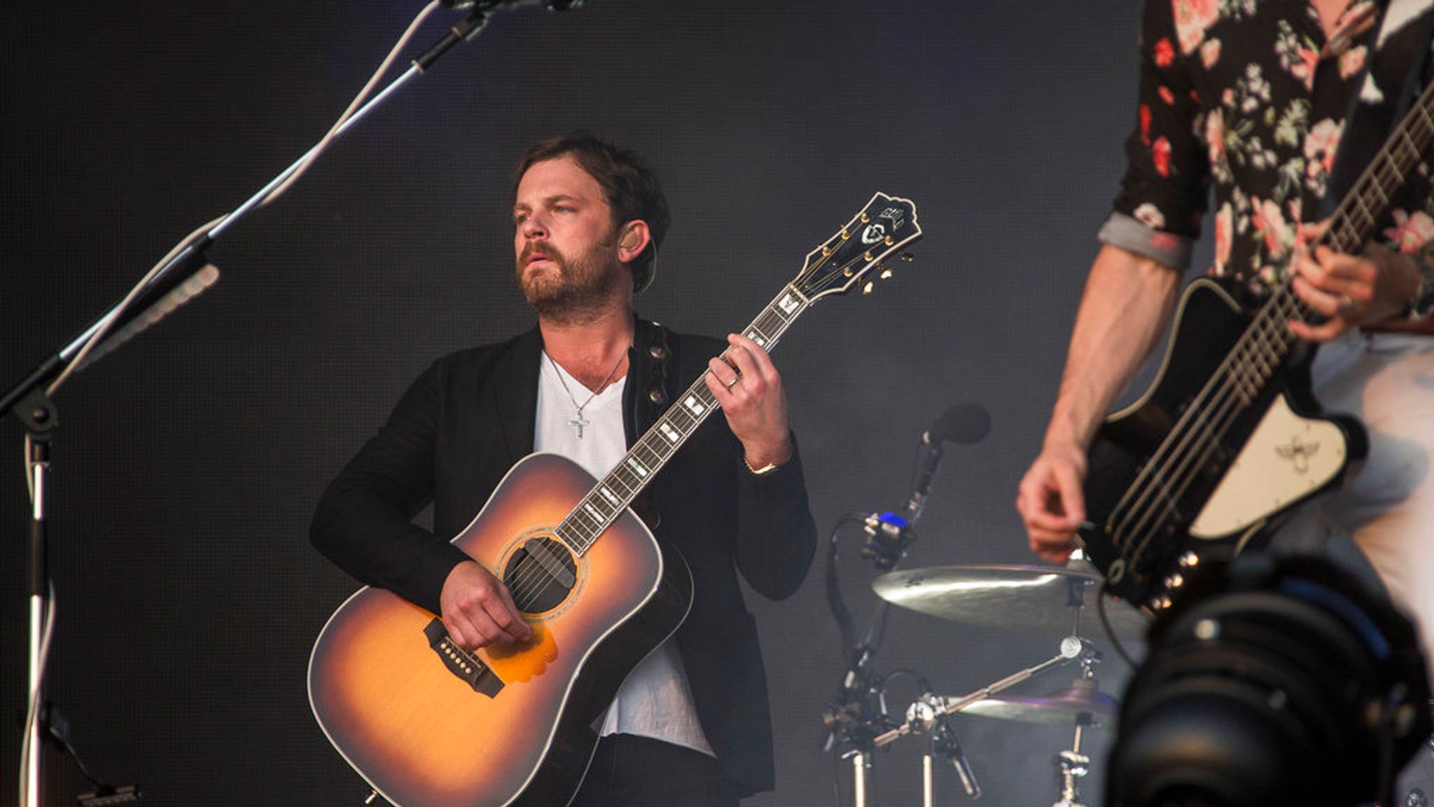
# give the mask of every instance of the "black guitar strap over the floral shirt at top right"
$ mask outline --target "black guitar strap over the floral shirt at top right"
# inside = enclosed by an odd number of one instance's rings
[[[1364,174],[1369,159],[1380,152],[1384,141],[1404,118],[1420,92],[1420,79],[1428,63],[1434,37],[1434,0],[1390,0],[1380,20],[1380,33],[1365,57],[1365,73],[1359,90],[1349,99],[1344,116],[1339,152],[1325,187],[1325,195],[1311,221],[1334,215],[1335,208]],[[1322,59],[1319,70],[1338,70],[1341,56]],[[1316,73],[1318,82],[1322,76]],[[1334,80],[1334,76],[1329,78]],[[1311,121],[1332,118],[1338,109],[1321,109],[1316,103]]]

